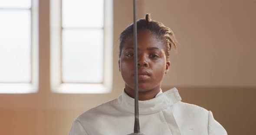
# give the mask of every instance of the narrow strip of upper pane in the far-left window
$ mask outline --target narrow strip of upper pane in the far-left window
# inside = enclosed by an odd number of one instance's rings
[[[30,8],[31,0],[0,0],[0,8]]]

